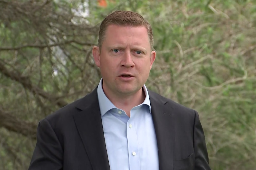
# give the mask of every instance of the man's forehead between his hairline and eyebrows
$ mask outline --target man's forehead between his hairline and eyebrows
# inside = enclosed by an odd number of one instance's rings
[[[103,43],[105,44],[127,44],[150,46],[148,31],[145,26],[120,26],[109,25],[105,32]]]

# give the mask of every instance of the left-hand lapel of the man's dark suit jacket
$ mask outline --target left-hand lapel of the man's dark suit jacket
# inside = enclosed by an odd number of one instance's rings
[[[110,170],[97,88],[80,101],[77,109],[80,112],[73,117],[93,170]]]

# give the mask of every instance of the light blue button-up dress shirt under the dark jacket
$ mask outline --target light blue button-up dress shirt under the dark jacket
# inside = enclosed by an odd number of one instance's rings
[[[105,143],[111,170],[159,170],[157,140],[146,86],[144,102],[131,109],[130,118],[97,88]]]

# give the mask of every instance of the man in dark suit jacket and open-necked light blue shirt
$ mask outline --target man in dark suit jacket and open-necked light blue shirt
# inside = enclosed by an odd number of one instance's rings
[[[29,170],[210,170],[198,113],[144,85],[152,49],[140,14],[109,14],[92,50],[99,85],[39,122]]]

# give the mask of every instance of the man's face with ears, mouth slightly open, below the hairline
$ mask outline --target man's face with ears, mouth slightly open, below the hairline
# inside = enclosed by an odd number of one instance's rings
[[[151,52],[146,27],[109,25],[101,51],[94,47],[93,56],[105,93],[127,96],[146,83],[156,53]]]

